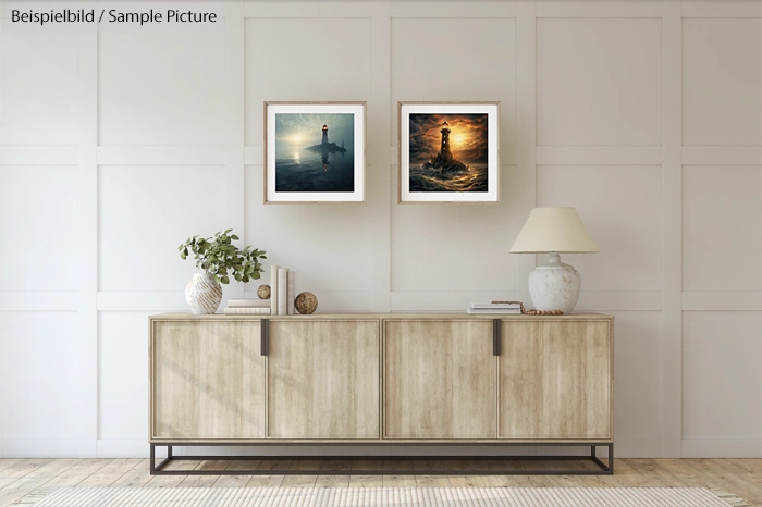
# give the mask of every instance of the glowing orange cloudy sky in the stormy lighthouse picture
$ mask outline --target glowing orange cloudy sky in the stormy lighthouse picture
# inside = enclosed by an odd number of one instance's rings
[[[450,149],[465,164],[487,164],[487,114],[410,113],[410,164],[431,160],[440,151],[442,123],[450,124]]]

